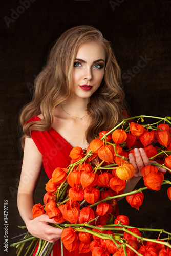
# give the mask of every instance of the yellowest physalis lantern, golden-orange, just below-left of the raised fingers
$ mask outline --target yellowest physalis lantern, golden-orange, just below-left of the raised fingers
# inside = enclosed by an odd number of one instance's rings
[[[123,163],[123,165],[119,166],[116,169],[116,175],[121,180],[129,180],[135,174],[134,166],[131,163]]]

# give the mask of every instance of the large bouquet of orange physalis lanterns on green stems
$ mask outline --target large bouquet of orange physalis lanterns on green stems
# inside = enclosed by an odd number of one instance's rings
[[[140,124],[144,118],[155,118],[155,122]],[[116,200],[123,196],[132,207],[139,209],[144,199],[143,191],[158,191],[161,185],[169,185],[167,194],[171,200],[171,182],[164,180],[160,172],[162,166],[171,173],[170,120],[170,117],[153,116],[127,118],[111,131],[100,132],[99,138],[94,139],[86,150],[74,147],[68,168],[56,166],[52,179],[46,184],[44,205],[34,205],[33,218],[42,214],[53,218],[57,224],[52,225],[62,229],[61,246],[69,252],[78,249],[79,253],[91,251],[93,256],[170,256],[170,232],[153,229],[166,237],[146,238],[143,231],[151,229],[129,226],[129,218],[117,215],[116,210]],[[126,183],[135,173],[128,159],[130,152],[134,154],[135,147],[143,147],[148,158],[157,163],[152,161],[142,168],[144,187],[124,194]],[[27,233],[22,241],[11,245],[18,248],[17,255],[27,241],[31,244],[25,255],[33,247],[32,255],[38,242],[36,255],[47,256],[53,251],[53,244]]]

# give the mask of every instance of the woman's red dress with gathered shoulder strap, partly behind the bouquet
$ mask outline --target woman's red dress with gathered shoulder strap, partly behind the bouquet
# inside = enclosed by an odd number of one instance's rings
[[[38,116],[33,116],[28,122],[41,120]],[[52,178],[53,170],[57,167],[66,168],[71,162],[69,157],[72,146],[53,128],[48,131],[32,131],[31,137],[37,146],[39,152],[42,155],[42,162],[45,168],[45,172],[49,179]],[[115,216],[119,214],[118,208],[115,211]],[[92,253],[78,253],[78,249],[69,252],[65,247],[63,248],[65,256],[91,256]],[[36,254],[34,252],[33,256]],[[53,255],[61,255],[60,251],[60,239],[55,243],[53,247]]]

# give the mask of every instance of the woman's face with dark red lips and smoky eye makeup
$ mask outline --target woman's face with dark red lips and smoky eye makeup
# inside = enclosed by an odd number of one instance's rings
[[[73,96],[89,98],[100,86],[104,76],[105,51],[98,42],[83,44],[74,62]]]

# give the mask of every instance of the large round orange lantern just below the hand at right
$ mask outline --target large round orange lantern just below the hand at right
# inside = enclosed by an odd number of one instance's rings
[[[160,190],[162,179],[157,173],[149,173],[143,178],[144,185],[152,190]]]

